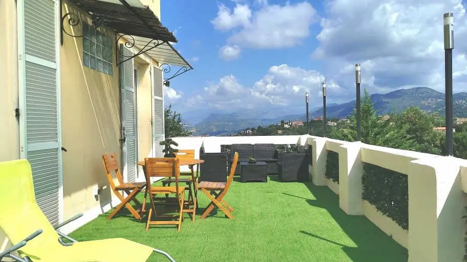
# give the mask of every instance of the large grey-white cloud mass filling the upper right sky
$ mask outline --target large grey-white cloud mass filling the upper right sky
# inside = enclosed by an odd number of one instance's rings
[[[461,0],[330,1],[311,57],[323,59],[327,74],[351,94],[357,62],[362,63],[362,86],[370,92],[415,86],[442,91],[445,12],[454,12],[455,19],[454,91],[466,91],[467,78],[460,77],[467,71],[461,59],[467,53]]]

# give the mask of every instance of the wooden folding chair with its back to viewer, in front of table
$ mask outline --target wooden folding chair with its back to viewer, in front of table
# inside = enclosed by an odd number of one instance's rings
[[[163,157],[163,158],[145,158],[146,169],[146,186],[150,194],[151,208],[147,217],[146,231],[150,225],[178,225],[178,231],[182,227],[183,221],[183,204],[185,197],[185,187],[179,185],[180,178],[180,160],[176,157]],[[151,177],[174,177],[175,186],[151,186]],[[155,219],[159,217],[177,217],[177,215],[157,215],[156,202],[154,197],[157,194],[175,195],[177,204],[179,206],[178,220],[152,220],[154,213]]]

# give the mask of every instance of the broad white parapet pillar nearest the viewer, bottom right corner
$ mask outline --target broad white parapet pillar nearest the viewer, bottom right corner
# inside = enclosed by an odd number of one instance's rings
[[[409,262],[462,261],[465,234],[460,163],[453,157],[409,164]]]

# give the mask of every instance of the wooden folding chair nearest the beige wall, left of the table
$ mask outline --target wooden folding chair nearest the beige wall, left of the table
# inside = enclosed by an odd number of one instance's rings
[[[123,183],[123,179],[119,171],[118,161],[117,157],[115,156],[115,153],[102,155],[102,162],[104,164],[105,173],[107,175],[107,180],[109,180],[110,187],[112,188],[114,194],[121,201],[121,203],[115,208],[115,210],[110,214],[110,216],[107,219],[112,219],[116,215],[116,213],[123,208],[123,206],[125,206],[126,209],[130,211],[134,218],[141,219],[141,215],[144,212],[146,201],[144,201],[142,204],[141,214],[140,210],[135,210],[135,208],[133,208],[133,206],[130,205],[130,201],[132,201],[138,206],[141,206],[141,203],[136,199],[136,195],[138,195],[138,193],[141,192],[142,189],[144,189],[146,183]],[[114,179],[112,178],[111,174],[112,171],[115,171],[115,176],[117,177],[119,185],[115,185]],[[127,195],[126,198],[124,198],[120,192],[125,192]]]

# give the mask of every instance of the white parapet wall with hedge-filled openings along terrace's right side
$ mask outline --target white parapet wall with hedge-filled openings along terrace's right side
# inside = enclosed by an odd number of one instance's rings
[[[302,138],[303,139],[303,138]],[[339,206],[364,215],[409,251],[409,262],[461,262],[466,231],[467,160],[309,136],[311,176],[327,185],[327,150],[339,154]],[[364,163],[408,176],[409,230],[404,230],[362,199]],[[334,188],[335,192],[335,188]]]

